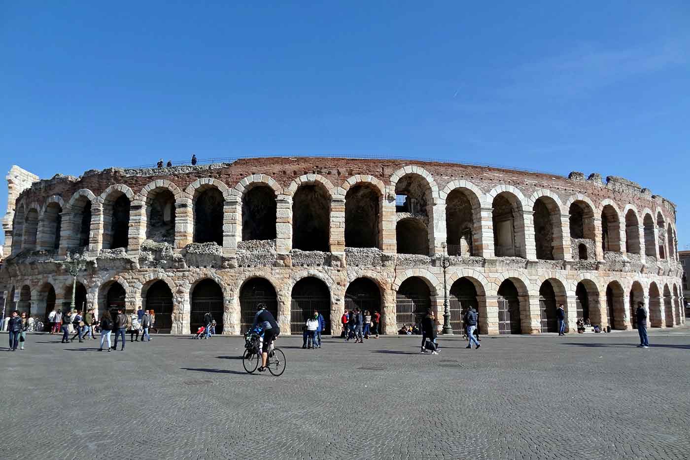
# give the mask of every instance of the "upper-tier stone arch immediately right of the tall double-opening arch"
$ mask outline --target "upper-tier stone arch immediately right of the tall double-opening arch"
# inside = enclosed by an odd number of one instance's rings
[[[476,256],[483,245],[482,198],[477,186],[453,180],[440,193],[446,205],[446,244],[449,256]]]

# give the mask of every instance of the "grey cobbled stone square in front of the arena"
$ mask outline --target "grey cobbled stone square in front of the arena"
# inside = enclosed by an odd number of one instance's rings
[[[7,335],[0,339],[4,345]],[[3,459],[680,459],[690,329],[489,338],[281,338],[283,376],[242,338],[155,336],[125,352],[30,335],[0,352]]]

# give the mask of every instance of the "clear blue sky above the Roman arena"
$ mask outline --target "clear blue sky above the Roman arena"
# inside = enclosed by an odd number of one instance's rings
[[[676,202],[690,245],[687,1],[187,3],[0,0],[3,175],[192,153],[598,172]]]

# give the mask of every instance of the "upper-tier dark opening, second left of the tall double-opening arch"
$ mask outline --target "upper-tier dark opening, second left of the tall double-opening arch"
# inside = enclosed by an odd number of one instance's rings
[[[321,184],[299,186],[293,198],[293,249],[330,251],[331,200]]]

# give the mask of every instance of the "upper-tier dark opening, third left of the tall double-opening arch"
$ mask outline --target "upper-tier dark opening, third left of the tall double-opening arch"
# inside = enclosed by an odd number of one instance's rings
[[[255,186],[242,198],[242,241],[275,240],[277,204],[269,186]]]

